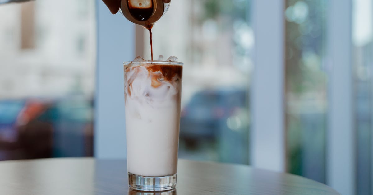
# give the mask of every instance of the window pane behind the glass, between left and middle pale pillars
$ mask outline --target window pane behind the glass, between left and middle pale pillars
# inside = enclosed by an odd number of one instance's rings
[[[249,6],[248,0],[173,1],[152,29],[154,58],[184,62],[181,158],[248,164]]]

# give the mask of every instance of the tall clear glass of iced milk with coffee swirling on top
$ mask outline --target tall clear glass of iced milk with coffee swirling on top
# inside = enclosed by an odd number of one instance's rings
[[[176,186],[183,63],[124,64],[127,169],[131,189]]]

